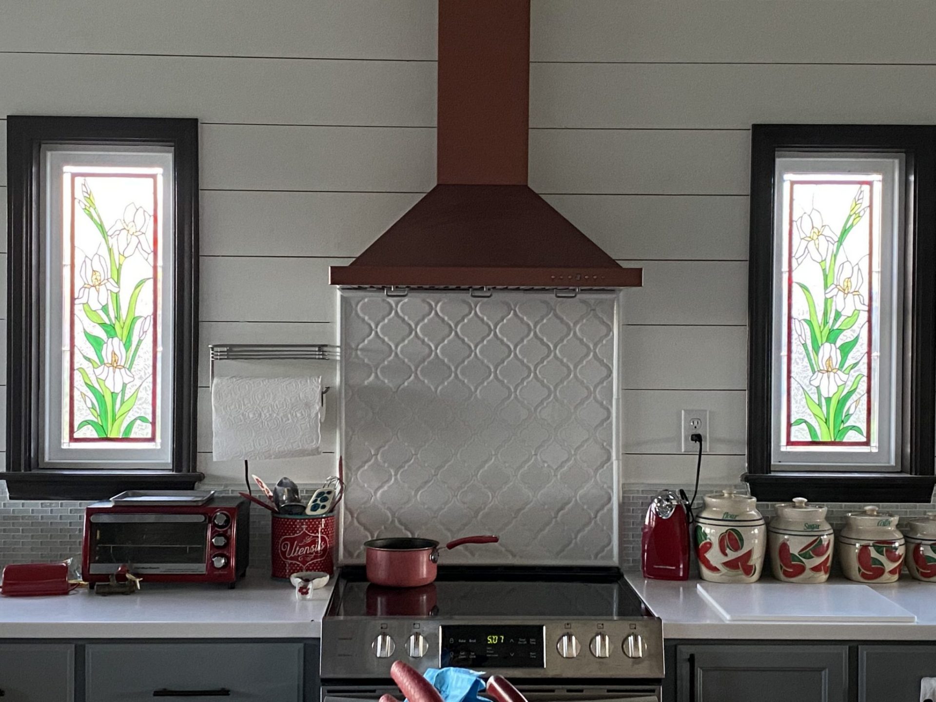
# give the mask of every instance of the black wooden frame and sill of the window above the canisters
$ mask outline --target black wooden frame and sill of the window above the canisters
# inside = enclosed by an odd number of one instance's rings
[[[899,473],[771,473],[775,159],[778,152],[903,154],[906,173],[902,437]],[[748,456],[744,479],[760,500],[795,496],[829,502],[929,503],[936,415],[936,126],[754,124],[751,131],[751,246],[748,264]]]

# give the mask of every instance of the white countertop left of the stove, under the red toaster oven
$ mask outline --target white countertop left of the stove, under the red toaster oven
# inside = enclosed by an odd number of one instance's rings
[[[0,596],[0,639],[315,638],[333,583],[301,601],[269,571],[248,571],[234,590],[144,580],[129,595],[79,589],[54,597]]]

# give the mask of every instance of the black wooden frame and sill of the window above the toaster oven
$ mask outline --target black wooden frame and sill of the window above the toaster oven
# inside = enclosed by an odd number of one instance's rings
[[[172,469],[52,469],[39,461],[40,149],[43,144],[173,148],[175,268]],[[195,486],[197,472],[198,122],[139,117],[7,117],[7,490],[14,499],[104,499]]]

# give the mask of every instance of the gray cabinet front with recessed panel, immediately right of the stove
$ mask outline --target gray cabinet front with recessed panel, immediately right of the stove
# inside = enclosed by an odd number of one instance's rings
[[[847,702],[848,647],[682,645],[678,702]]]

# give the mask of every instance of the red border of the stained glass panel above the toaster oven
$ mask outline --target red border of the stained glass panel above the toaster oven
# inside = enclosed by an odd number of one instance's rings
[[[96,444],[153,444],[156,440],[156,422],[158,417],[156,416],[156,392],[159,382],[158,370],[159,364],[156,358],[156,352],[158,345],[156,343],[156,332],[159,324],[159,174],[158,173],[97,173],[97,172],[83,172],[83,171],[69,171],[68,175],[71,176],[69,182],[70,195],[71,195],[71,281],[70,281],[70,300],[69,300],[69,310],[71,313],[71,319],[69,327],[69,341],[70,344],[69,354],[68,354],[68,442],[69,443],[96,443]],[[153,331],[153,390],[150,397],[150,407],[152,420],[150,422],[150,436],[75,436],[75,356],[76,356],[76,346],[75,346],[75,328],[78,326],[75,323],[76,320],[76,310],[75,310],[75,181],[78,178],[148,178],[153,181],[153,323],[151,329]]]

